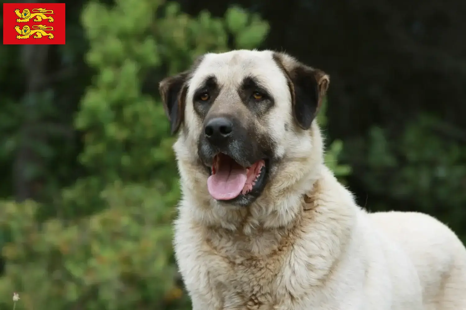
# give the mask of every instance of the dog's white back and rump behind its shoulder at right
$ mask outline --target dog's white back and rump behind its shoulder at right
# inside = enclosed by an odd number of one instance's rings
[[[369,215],[416,266],[426,310],[466,309],[466,249],[445,224],[418,212]]]

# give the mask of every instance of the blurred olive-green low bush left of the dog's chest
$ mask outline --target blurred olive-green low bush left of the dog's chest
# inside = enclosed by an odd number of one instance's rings
[[[179,290],[171,280],[171,212],[152,186],[115,183],[102,192],[107,208],[90,218],[39,226],[33,203],[0,204],[7,276],[0,300],[20,292],[16,309],[160,309]],[[4,304],[3,306],[6,307]]]

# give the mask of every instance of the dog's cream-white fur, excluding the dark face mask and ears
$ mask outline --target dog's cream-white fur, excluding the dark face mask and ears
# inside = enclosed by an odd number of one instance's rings
[[[466,310],[463,244],[427,215],[358,207],[323,163],[317,124],[284,129],[294,124],[291,96],[272,56],[207,54],[188,82],[187,130],[174,145],[183,192],[175,252],[193,310]],[[296,63],[287,55],[282,61]],[[277,142],[282,159],[247,208],[213,200],[199,167],[202,121],[192,96],[210,74],[224,88],[254,74],[275,99],[259,130]]]

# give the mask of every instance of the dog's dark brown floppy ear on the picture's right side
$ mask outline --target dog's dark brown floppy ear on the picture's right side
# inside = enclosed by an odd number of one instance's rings
[[[302,129],[309,129],[329,88],[330,77],[288,55],[277,54],[274,59],[287,75],[295,121]]]

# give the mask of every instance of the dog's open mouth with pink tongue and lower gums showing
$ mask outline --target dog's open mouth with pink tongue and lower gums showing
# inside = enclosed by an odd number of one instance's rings
[[[213,158],[211,172],[207,179],[210,195],[217,200],[232,200],[263,187],[267,161],[261,159],[250,167],[243,167],[228,155],[219,153]]]

